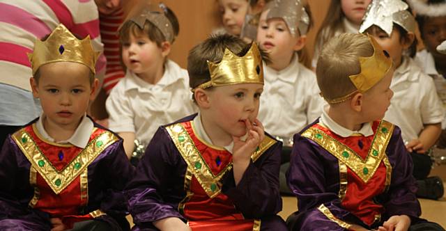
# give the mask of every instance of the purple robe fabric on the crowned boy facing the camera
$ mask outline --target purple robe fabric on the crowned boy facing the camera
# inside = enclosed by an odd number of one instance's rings
[[[96,124],[95,127],[106,130]],[[89,216],[89,213],[100,209],[106,215],[93,216],[95,220],[107,222],[113,228],[112,230],[129,230],[125,219],[128,212],[122,190],[130,181],[134,169],[125,156],[122,138],[118,138],[112,132],[108,134],[111,134],[109,136],[112,136],[114,141],[109,143],[107,148],[102,150],[86,167],[88,202],[79,207],[77,214],[70,215]],[[45,152],[45,150],[42,151]],[[30,168],[29,159],[13,140],[13,136],[8,136],[0,152],[0,230],[8,230],[8,228],[50,230],[52,228],[49,223],[49,218],[51,218],[49,213],[29,206],[36,195],[38,198],[36,190],[39,187],[37,185],[35,190],[30,184]],[[40,173],[36,174],[40,175]],[[70,184],[76,183],[79,182],[73,181]],[[38,200],[43,200],[43,198]],[[33,204],[36,205],[36,202]]]

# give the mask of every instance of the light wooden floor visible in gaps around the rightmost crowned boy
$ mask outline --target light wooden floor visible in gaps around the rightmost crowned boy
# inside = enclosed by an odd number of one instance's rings
[[[446,188],[446,165],[437,166],[433,168],[431,175],[438,175],[443,179],[443,185]],[[436,222],[439,225],[446,228],[446,193],[440,200],[426,200],[419,199],[422,209],[422,218],[428,221]],[[297,210],[297,200],[294,197],[283,196],[283,209],[279,212],[279,216],[282,216],[284,220]]]

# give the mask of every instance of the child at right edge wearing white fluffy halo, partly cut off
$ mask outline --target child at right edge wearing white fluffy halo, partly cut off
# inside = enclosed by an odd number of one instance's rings
[[[446,40],[446,1],[429,0],[410,1],[410,6],[417,13],[415,19],[425,49],[417,52],[415,61],[428,74],[436,86],[438,97],[446,109],[446,54],[437,51],[441,42]],[[446,148],[446,121],[442,124],[443,134],[438,146]]]

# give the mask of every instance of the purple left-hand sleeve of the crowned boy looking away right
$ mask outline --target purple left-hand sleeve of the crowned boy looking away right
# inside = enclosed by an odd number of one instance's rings
[[[337,159],[321,154],[324,151],[316,143],[295,134],[286,181],[298,198],[298,230],[345,230],[318,210],[322,204],[341,221],[355,219],[341,206],[335,193],[339,191]]]

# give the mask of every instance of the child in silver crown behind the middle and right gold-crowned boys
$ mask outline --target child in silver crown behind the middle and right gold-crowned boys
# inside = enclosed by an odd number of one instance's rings
[[[257,32],[257,41],[270,61],[263,63],[265,87],[259,120],[290,147],[293,134],[322,112],[316,75],[299,63],[296,53],[305,46],[308,26],[309,17],[300,0],[275,0],[261,13]]]

